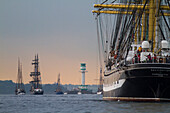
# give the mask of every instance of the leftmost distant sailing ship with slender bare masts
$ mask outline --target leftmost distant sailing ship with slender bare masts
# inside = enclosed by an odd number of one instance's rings
[[[26,92],[25,92],[23,78],[22,78],[22,65],[20,64],[20,60],[18,59],[18,75],[17,75],[15,94],[16,95],[25,95],[25,93]]]

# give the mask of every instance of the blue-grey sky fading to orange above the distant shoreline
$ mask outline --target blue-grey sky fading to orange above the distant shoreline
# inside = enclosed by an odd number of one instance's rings
[[[17,79],[18,57],[23,81],[35,54],[42,83],[81,84],[80,63],[87,64],[86,84],[98,83],[95,0],[0,0],[0,80]]]

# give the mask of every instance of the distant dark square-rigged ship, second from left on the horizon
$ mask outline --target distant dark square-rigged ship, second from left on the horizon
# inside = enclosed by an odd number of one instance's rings
[[[41,73],[39,72],[38,54],[35,55],[35,59],[32,61],[33,61],[32,65],[34,66],[34,71],[31,72],[30,74],[30,76],[33,79],[32,81],[30,81],[30,84],[31,84],[30,92],[31,94],[34,94],[34,95],[43,95],[44,91],[42,89]]]

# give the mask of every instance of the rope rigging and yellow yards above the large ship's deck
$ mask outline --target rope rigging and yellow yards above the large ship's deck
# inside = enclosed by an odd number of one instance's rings
[[[115,2],[118,2],[119,5],[114,4]],[[164,2],[169,6],[168,0],[164,0]],[[106,65],[109,64],[109,60],[114,63],[119,63],[121,60],[126,61],[133,43],[139,44],[143,40],[148,40],[151,42],[151,51],[154,51],[155,47],[159,49],[159,46],[154,46],[155,42],[159,43],[159,41],[154,42],[155,35],[159,37],[159,34],[155,33],[155,29],[159,29],[163,39],[168,40],[170,27],[169,21],[165,17],[168,13],[163,11],[167,6],[161,5],[161,0],[156,3],[157,1],[153,2],[153,5],[157,7],[156,10],[149,7],[151,4],[149,0],[102,0],[101,4],[104,5],[96,4],[95,8],[98,8],[99,11],[96,12],[96,18],[98,18],[97,34],[100,35],[98,36],[98,40],[100,39],[98,44],[102,46],[102,50],[99,51],[100,53],[103,52]],[[153,14],[149,14],[151,9],[153,10]],[[105,14],[102,15],[101,13]],[[160,19],[150,19],[152,15],[152,18],[162,16],[163,21],[161,22],[166,26],[164,27],[156,23]]]

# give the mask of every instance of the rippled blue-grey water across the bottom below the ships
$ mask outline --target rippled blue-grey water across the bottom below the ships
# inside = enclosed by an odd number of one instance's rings
[[[103,101],[101,95],[0,95],[0,113],[169,113],[170,103]]]

